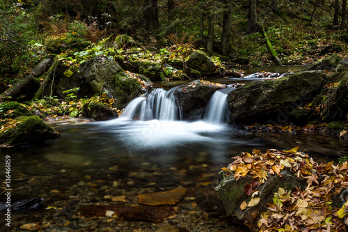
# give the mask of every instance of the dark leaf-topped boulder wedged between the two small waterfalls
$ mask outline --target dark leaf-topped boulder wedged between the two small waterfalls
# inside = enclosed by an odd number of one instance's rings
[[[226,88],[226,85],[196,80],[190,82],[187,86],[179,87],[174,91],[177,102],[182,107],[184,119],[197,114],[197,111],[204,114],[203,108],[207,106],[209,99],[219,88]],[[203,115],[201,115],[203,116]],[[201,116],[195,116],[200,118]]]

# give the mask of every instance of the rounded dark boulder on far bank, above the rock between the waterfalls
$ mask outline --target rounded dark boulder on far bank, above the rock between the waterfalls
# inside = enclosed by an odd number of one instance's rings
[[[204,52],[196,51],[193,52],[187,60],[187,66],[198,70],[201,75],[212,73],[216,70],[216,65]]]

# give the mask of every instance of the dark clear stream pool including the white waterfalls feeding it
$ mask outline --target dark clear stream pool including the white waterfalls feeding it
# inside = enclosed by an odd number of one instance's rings
[[[226,99],[216,92],[216,102]],[[219,95],[219,96],[217,96]],[[214,95],[213,95],[214,97]],[[214,101],[212,97],[211,101]],[[220,99],[220,100],[219,100]],[[1,149],[1,183],[5,157],[11,158],[11,196],[16,203],[38,197],[41,207],[12,212],[10,228],[0,217],[0,231],[248,231],[232,224],[217,199],[217,173],[231,157],[254,148],[290,150],[299,146],[317,162],[348,155],[347,141],[323,134],[247,132],[226,121],[226,105],[212,103],[200,121],[180,121],[171,91],[136,98],[120,118],[95,122],[65,119],[47,123],[61,139],[43,146]],[[136,119],[136,120],[135,120]],[[138,194],[185,188],[177,212],[164,222],[80,217],[80,206],[139,205]],[[5,213],[6,192],[0,196]],[[120,196],[113,199],[111,196]]]

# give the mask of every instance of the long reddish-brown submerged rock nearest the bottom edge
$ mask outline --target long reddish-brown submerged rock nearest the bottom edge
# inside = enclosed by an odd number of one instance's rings
[[[115,212],[114,217],[124,221],[150,221],[164,222],[166,217],[176,214],[176,210],[169,206],[94,206],[80,207],[80,215],[83,217],[106,217],[106,210]]]

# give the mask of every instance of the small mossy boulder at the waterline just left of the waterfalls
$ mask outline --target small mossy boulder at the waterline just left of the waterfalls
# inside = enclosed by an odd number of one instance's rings
[[[100,102],[86,103],[81,108],[82,116],[92,118],[95,121],[106,121],[111,118],[118,118],[118,114],[107,105]]]

